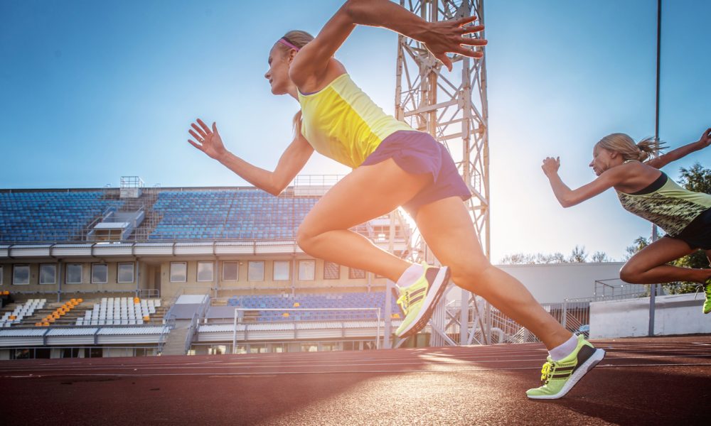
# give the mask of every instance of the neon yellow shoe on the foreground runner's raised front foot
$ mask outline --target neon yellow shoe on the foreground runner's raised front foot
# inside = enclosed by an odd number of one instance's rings
[[[427,325],[429,317],[432,316],[434,307],[439,302],[439,297],[444,293],[449,283],[449,268],[435,268],[423,263],[424,273],[414,284],[405,288],[397,288],[400,297],[397,297],[397,304],[400,305],[402,320],[400,327],[397,327],[395,335],[404,339],[419,332]]]

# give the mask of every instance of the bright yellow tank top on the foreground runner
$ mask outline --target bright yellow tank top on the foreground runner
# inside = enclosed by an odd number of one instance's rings
[[[311,94],[299,92],[301,134],[316,152],[357,168],[396,131],[412,127],[385,114],[351,76],[342,74]]]

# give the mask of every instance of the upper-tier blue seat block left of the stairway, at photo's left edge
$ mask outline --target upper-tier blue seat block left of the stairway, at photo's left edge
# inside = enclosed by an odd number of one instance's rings
[[[92,219],[122,202],[103,191],[0,192],[4,241],[72,241]]]

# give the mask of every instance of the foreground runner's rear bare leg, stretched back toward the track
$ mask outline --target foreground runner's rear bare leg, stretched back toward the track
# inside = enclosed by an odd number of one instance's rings
[[[548,349],[570,339],[572,333],[545,312],[523,284],[488,262],[479,246],[469,212],[459,197],[420,207],[415,220],[434,255],[451,268],[456,285],[481,295],[498,310],[523,324]]]

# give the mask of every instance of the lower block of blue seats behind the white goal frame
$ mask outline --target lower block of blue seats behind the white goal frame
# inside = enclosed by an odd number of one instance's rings
[[[316,308],[380,308],[380,318],[385,315],[385,292],[337,293],[337,294],[297,294],[297,295],[248,295],[232,296],[228,306],[253,309],[258,312],[257,322],[274,321],[324,321],[324,320],[375,320],[373,310],[355,311],[309,311]],[[262,309],[277,309],[267,311]],[[289,311],[279,311],[289,309]],[[292,309],[297,309],[296,311]],[[302,311],[303,310],[303,311]],[[400,307],[392,297],[390,312],[393,318],[400,318]]]

